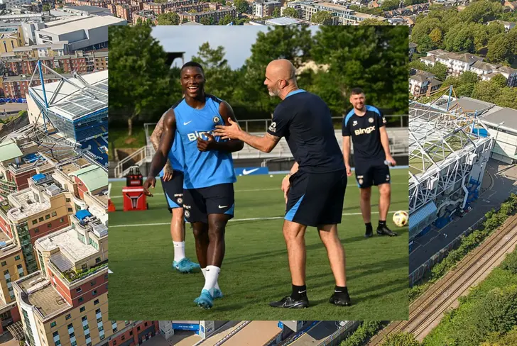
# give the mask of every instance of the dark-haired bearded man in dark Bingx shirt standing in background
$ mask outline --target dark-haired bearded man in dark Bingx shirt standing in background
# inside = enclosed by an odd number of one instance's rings
[[[366,225],[365,237],[373,235],[371,227],[371,186],[379,186],[379,225],[377,234],[397,235],[386,225],[391,200],[390,172],[387,164],[395,166],[391,157],[386,118],[379,109],[364,104],[364,91],[352,89],[350,103],[354,108],[343,118],[343,157],[350,169],[350,140],[354,143],[354,167],[357,185],[361,189],[361,213]]]

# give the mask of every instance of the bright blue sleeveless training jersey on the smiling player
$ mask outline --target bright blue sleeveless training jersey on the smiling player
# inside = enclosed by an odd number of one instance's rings
[[[224,125],[219,104],[222,100],[205,94],[205,107],[192,108],[185,99],[173,106],[176,118],[176,141],[180,141],[184,152],[183,188],[201,189],[218,184],[237,181],[231,152],[197,149],[197,138],[207,140],[205,133],[212,133],[216,125]],[[215,137],[219,142],[221,139]]]

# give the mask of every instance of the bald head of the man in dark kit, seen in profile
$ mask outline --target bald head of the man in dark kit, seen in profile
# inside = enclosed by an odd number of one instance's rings
[[[296,69],[286,59],[273,60],[266,67],[266,81],[271,96],[278,96],[285,99],[290,91],[298,89],[296,84]]]

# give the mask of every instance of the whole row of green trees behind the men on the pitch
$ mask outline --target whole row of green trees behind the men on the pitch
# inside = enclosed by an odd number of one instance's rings
[[[166,53],[148,26],[111,28],[109,42],[110,126],[131,133],[134,122],[157,121],[182,97],[180,71],[165,65]],[[305,27],[277,26],[258,33],[239,69],[229,66],[224,48],[209,43],[192,60],[205,69],[207,92],[228,101],[239,119],[271,118],[279,100],[263,81],[268,62],[278,58],[297,68],[307,62],[322,67],[303,70],[298,86],[322,97],[334,116],[347,111],[354,87],[385,113],[407,114],[407,47],[405,26],[322,26],[314,35]]]

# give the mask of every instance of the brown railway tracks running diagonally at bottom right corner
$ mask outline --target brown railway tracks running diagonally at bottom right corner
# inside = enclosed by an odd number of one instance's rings
[[[395,321],[373,337],[369,346],[379,346],[384,337],[392,333],[408,332],[423,340],[430,328],[434,328],[442,314],[462,296],[472,284],[486,277],[494,264],[504,257],[517,243],[517,216],[511,216],[479,247],[457,264],[452,272],[445,274],[410,304],[409,320]]]

